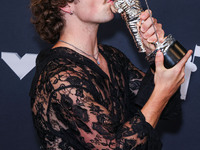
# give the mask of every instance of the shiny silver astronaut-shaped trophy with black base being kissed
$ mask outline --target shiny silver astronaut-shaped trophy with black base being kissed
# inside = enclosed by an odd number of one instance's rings
[[[147,1],[146,1],[146,5],[148,7]],[[139,52],[146,52],[145,45],[142,42],[142,38],[140,36],[140,31],[138,27],[138,23],[140,22],[139,16],[143,11],[140,1],[139,0],[116,0],[114,2],[114,7],[118,13],[121,13],[123,19],[125,20],[126,25],[137,47],[139,48]],[[151,13],[150,13],[150,17],[151,17]],[[157,33],[156,33],[156,36],[157,36]],[[157,36],[157,40],[158,40],[158,36]],[[171,68],[174,65],[176,65],[181,60],[181,58],[183,58],[185,54],[187,53],[186,49],[177,40],[175,40],[172,37],[172,35],[168,35],[167,37],[165,37],[165,40],[162,43],[160,43],[158,40],[156,43],[152,43],[152,44],[154,44],[154,49],[150,50],[151,52],[147,54],[146,59],[150,63],[153,69],[155,69],[155,55],[158,50],[161,50],[161,52],[164,55],[164,66],[166,68]]]

